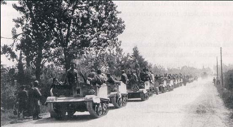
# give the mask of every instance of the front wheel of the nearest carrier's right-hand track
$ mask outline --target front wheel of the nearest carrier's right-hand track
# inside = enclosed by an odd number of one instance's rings
[[[99,118],[103,115],[102,104],[95,104],[93,102],[87,102],[86,106],[92,117]]]

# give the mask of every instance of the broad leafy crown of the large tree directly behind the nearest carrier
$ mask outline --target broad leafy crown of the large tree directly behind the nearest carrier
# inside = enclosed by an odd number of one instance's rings
[[[120,43],[117,37],[125,25],[112,0],[64,0],[53,11],[57,20],[51,56],[67,70],[72,59],[98,55]]]

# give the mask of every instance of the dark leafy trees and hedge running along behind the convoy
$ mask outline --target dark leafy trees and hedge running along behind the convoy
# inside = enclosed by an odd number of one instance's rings
[[[125,23],[112,0],[18,0],[13,8],[21,14],[13,19],[14,42],[1,47],[1,54],[17,61],[12,68],[1,64],[1,101],[5,108],[13,106],[17,87],[34,80],[41,83],[46,98],[51,79],[64,81],[74,59],[83,74],[102,69],[118,77],[121,70],[131,73],[143,68],[158,75],[201,74],[202,70],[187,66],[165,69],[152,65],[137,47],[132,54],[125,54],[118,39]]]

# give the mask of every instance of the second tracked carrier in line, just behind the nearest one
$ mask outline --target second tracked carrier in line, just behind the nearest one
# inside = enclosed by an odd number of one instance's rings
[[[114,85],[108,85],[108,98],[115,108],[121,108],[127,105],[128,92],[127,86],[123,82]]]

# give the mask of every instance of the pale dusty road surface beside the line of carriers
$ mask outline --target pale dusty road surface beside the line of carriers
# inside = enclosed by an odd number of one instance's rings
[[[126,107],[111,108],[99,119],[91,119],[88,113],[76,113],[73,119],[57,121],[47,114],[38,121],[4,127],[228,127],[228,113],[208,78],[145,102],[131,100]]]

